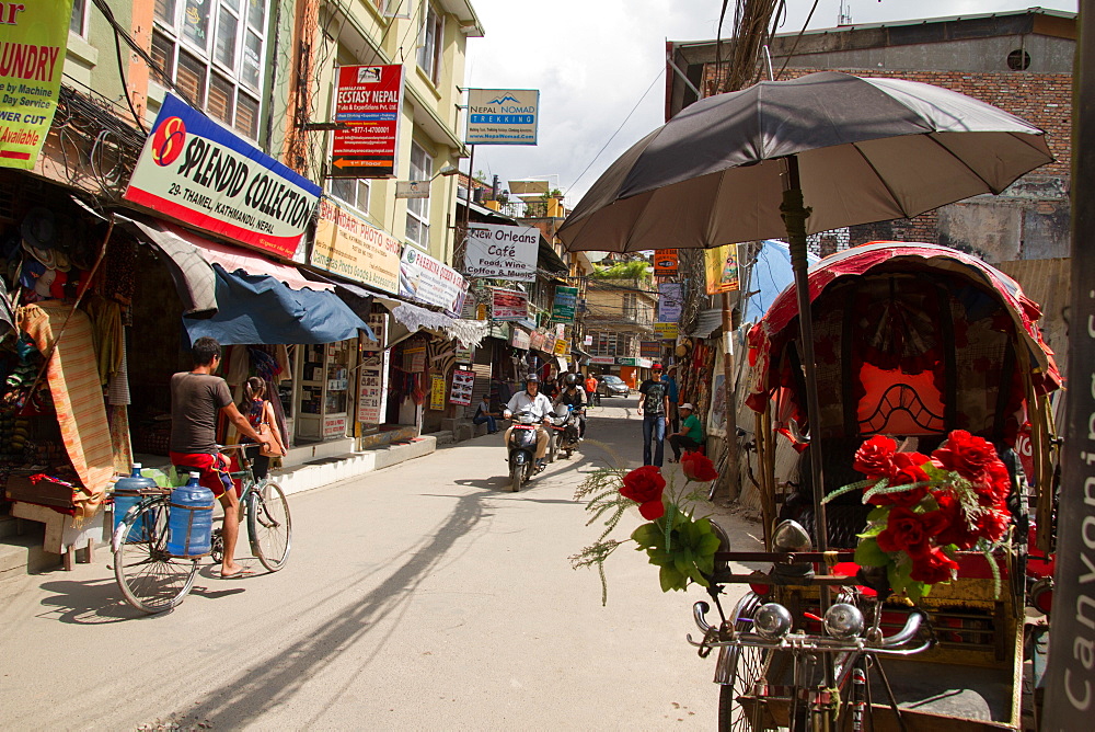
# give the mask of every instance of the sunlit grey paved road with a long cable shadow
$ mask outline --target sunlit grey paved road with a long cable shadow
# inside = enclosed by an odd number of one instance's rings
[[[581,474],[641,461],[635,407],[604,400],[583,453],[519,494],[492,436],[293,495],[284,571],[206,567],[168,615],[129,609],[105,552],[0,584],[0,727],[713,729],[714,660],[684,641],[702,591],[662,594],[625,547],[602,607],[567,562],[597,536]],[[730,528],[747,548],[754,527]]]

